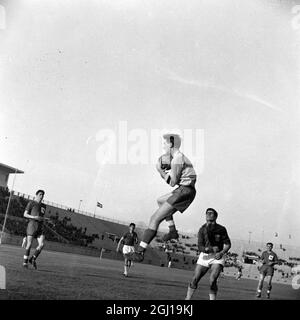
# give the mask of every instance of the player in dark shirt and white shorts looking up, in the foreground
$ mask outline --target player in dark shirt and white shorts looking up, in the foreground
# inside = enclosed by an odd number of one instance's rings
[[[225,265],[224,255],[231,248],[231,241],[225,227],[217,224],[218,213],[212,208],[206,210],[206,223],[198,232],[199,259],[194,276],[188,286],[185,300],[191,300],[200,279],[211,269],[209,299],[216,300],[218,277]]]

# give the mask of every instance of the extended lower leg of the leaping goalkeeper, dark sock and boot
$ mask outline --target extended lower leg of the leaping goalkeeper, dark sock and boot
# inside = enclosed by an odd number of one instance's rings
[[[160,223],[170,215],[173,215],[177,210],[168,202],[164,202],[156,212],[151,216],[148,229],[143,234],[143,240],[136,252],[128,254],[127,258],[133,261],[142,262],[144,260],[144,252],[150,242],[154,239]]]

